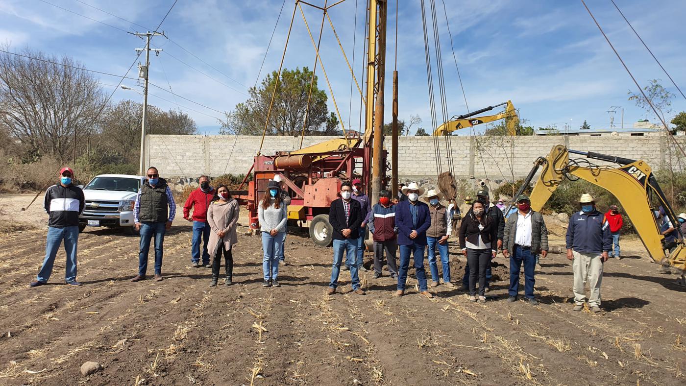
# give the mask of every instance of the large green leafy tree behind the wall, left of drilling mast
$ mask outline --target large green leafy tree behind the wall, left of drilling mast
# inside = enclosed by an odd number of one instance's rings
[[[262,134],[277,75],[276,71],[272,71],[265,76],[259,86],[250,88],[248,91],[250,98],[237,104],[232,112],[226,113],[226,120],[220,121],[222,123],[220,134]],[[303,125],[305,125],[305,133],[309,135],[335,132],[338,119],[335,119],[336,124],[333,125],[334,121],[327,107],[327,94],[318,88],[316,76],[312,81],[312,95],[308,111],[307,95],[311,80],[312,71],[307,67],[303,67],[302,70],[283,69],[276,87],[270,120],[266,125],[268,135],[298,135],[303,132]],[[307,114],[307,124],[305,124],[305,114]]]

